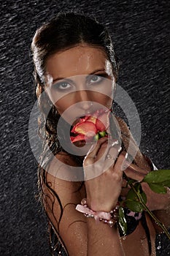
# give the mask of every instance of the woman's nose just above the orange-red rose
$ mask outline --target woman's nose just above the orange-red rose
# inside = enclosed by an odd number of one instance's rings
[[[90,99],[90,92],[85,90],[80,90],[80,91],[77,91],[77,93],[78,93],[77,98],[78,98],[78,101],[80,102],[80,108],[82,108],[82,110],[85,110],[85,112],[87,112],[93,105],[93,102],[91,102],[91,99]]]

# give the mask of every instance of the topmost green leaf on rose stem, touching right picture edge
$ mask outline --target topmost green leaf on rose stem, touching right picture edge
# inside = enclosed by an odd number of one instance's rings
[[[170,187],[170,170],[154,170],[148,173],[142,181],[147,182],[148,184],[169,181],[166,183],[166,186],[169,184],[168,187]]]

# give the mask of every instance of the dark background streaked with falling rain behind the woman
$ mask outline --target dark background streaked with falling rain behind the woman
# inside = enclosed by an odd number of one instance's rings
[[[1,1],[0,255],[50,255],[45,214],[36,200],[36,160],[28,140],[35,97],[31,39],[63,9],[96,15],[107,24],[122,61],[118,83],[134,100],[142,123],[141,149],[169,169],[170,1]],[[161,237],[158,255],[169,255]]]

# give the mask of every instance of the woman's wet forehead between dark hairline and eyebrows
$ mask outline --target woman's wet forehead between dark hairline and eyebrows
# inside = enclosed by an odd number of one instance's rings
[[[46,72],[53,78],[86,75],[94,70],[106,69],[107,62],[104,50],[88,45],[78,45],[50,56],[47,59]]]

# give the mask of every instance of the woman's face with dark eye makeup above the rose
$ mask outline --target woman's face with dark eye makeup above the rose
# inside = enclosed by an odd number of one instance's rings
[[[98,108],[112,107],[115,78],[100,48],[78,45],[47,59],[45,91],[58,113],[73,124]]]

